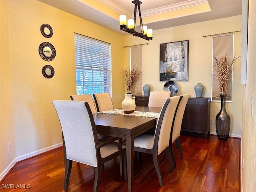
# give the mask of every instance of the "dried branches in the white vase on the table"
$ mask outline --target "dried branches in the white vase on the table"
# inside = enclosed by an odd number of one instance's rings
[[[126,85],[127,94],[131,94],[132,86],[140,78],[140,74],[142,74],[142,72],[140,72],[140,68],[138,66],[134,66],[131,70],[130,67],[127,66],[126,68],[121,69],[121,72]]]

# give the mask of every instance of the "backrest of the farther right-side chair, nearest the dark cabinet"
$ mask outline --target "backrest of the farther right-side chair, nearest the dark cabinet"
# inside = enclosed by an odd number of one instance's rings
[[[178,104],[178,108],[175,114],[174,123],[172,127],[172,142],[174,142],[180,136],[180,129],[182,124],[182,119],[184,115],[184,111],[188,102],[189,94],[183,94],[180,96],[181,100]]]

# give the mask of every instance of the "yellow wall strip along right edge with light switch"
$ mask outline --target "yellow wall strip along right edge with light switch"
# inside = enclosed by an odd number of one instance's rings
[[[241,191],[256,191],[256,98],[254,98],[254,116],[251,116],[251,98],[256,96],[256,1],[249,1],[248,20],[248,54],[247,54],[247,80],[244,87],[243,128],[241,138]],[[242,169],[242,162],[244,168]]]

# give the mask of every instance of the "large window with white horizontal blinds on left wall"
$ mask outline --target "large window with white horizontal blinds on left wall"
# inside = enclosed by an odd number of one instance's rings
[[[110,44],[75,34],[75,60],[76,94],[112,96]]]

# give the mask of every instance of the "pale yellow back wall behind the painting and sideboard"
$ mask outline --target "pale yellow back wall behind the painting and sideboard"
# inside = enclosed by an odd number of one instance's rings
[[[189,40],[188,53],[188,81],[176,81],[179,86],[177,94],[189,93],[195,97],[194,86],[197,83],[204,85],[204,97],[211,97],[212,86],[212,36],[204,35],[219,34],[241,30],[241,16],[199,22],[172,28],[153,31],[153,40],[148,45],[142,46],[143,78],[142,84],[150,84],[151,90],[162,91],[166,81],[159,81],[159,52],[160,44],[180,40]],[[147,43],[141,38],[132,35],[125,36],[124,46]],[[124,48],[125,64],[129,63],[129,49]],[[241,32],[234,35],[234,53],[241,55]],[[242,128],[242,89],[240,84],[240,58],[234,69],[232,103],[226,104],[226,109],[231,117],[230,135],[241,135]],[[216,134],[215,117],[220,111],[220,102],[211,102],[210,118],[214,124],[210,124],[210,132]]]

